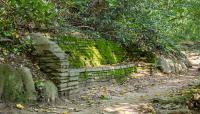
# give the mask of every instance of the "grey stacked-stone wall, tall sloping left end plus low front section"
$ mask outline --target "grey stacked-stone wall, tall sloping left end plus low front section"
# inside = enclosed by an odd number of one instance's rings
[[[32,55],[36,63],[56,84],[60,96],[73,98],[80,87],[93,82],[121,79],[133,71],[133,64],[69,69],[67,55],[55,42],[39,33],[32,33],[31,39],[34,48]]]

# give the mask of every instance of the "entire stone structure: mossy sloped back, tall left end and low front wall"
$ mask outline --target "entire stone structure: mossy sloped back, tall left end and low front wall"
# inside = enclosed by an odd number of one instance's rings
[[[35,61],[61,96],[74,97],[80,87],[92,82],[122,82],[134,69],[133,64],[119,65],[126,58],[125,51],[111,41],[64,37],[59,41],[61,49],[39,33],[32,33],[31,38]]]

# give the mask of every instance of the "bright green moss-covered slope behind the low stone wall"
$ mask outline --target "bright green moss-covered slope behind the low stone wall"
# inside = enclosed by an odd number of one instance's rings
[[[120,45],[104,39],[64,36],[60,38],[59,45],[68,54],[71,68],[117,64],[126,58]]]

